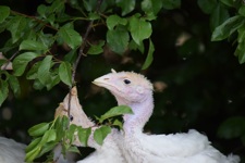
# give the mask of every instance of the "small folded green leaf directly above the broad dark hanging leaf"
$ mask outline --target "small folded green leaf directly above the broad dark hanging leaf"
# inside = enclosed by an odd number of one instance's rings
[[[122,18],[119,15],[110,15],[107,17],[107,27],[109,28],[109,30],[112,30],[114,26],[119,24],[126,25],[126,23],[127,23],[127,20]]]

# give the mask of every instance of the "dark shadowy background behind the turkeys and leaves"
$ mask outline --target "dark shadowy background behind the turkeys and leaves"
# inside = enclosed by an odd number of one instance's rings
[[[0,4],[35,15],[41,2],[1,0]],[[147,71],[140,71],[146,55],[137,51],[118,55],[105,49],[101,55],[83,57],[76,80],[85,112],[95,117],[117,104],[108,91],[91,85],[96,77],[109,73],[111,67],[143,73],[156,86],[156,106],[145,127],[147,131],[169,134],[195,128],[207,135],[224,154],[232,152],[244,158],[245,148],[241,138],[224,139],[225,135],[219,135],[218,130],[228,118],[245,115],[245,65],[241,65],[233,54],[235,45],[210,41],[209,18],[192,0],[182,1],[181,9],[161,11],[152,23],[151,40],[156,51]],[[98,28],[90,39],[102,35],[102,27]],[[8,33],[1,34],[1,46],[9,36]],[[177,41],[180,38],[188,39],[182,43]],[[54,110],[68,93],[68,88],[60,84],[51,91],[39,91],[34,90],[32,82],[24,77],[20,82],[22,96],[16,99],[10,95],[0,109],[0,134],[28,143],[30,137],[27,129],[53,118]]]

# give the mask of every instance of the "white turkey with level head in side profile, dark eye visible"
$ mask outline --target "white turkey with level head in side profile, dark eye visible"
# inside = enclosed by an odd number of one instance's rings
[[[154,111],[152,85],[143,75],[119,72],[103,75],[93,82],[105,87],[119,105],[131,106],[134,114],[123,115],[123,134],[118,134],[120,147],[127,163],[238,163],[236,155],[223,155],[208,138],[197,130],[170,135],[146,135],[145,124]]]

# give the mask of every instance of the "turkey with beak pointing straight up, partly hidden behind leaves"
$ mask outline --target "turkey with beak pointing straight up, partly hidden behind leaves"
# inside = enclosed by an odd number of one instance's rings
[[[71,90],[71,101],[69,102],[69,95],[64,98],[63,102],[60,103],[59,108],[56,110],[56,116],[68,116],[68,108],[71,102],[70,108],[70,116],[71,124],[75,124],[77,126],[82,126],[83,128],[91,127],[93,131],[98,128],[95,123],[84,113],[82,105],[79,104],[77,98],[76,87],[73,87]],[[122,152],[120,151],[117,145],[117,138],[119,136],[119,131],[117,129],[112,129],[111,134],[107,136],[103,140],[103,145],[99,146],[93,138],[93,133],[88,140],[88,147],[95,148],[95,152],[93,152],[87,158],[77,161],[77,163],[124,163],[125,160],[122,156]],[[77,147],[84,147],[78,139],[74,142]],[[61,150],[57,150],[61,151]],[[63,162],[63,156],[61,153],[57,152],[54,158],[59,158],[59,162]]]

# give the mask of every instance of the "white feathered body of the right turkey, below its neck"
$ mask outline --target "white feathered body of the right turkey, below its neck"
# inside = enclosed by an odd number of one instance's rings
[[[128,163],[237,163],[238,156],[225,156],[210,146],[207,137],[191,129],[186,134],[136,134],[124,138],[123,152]]]

